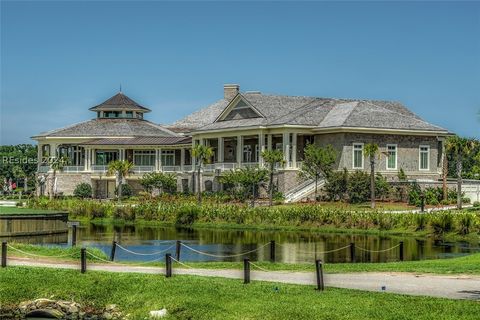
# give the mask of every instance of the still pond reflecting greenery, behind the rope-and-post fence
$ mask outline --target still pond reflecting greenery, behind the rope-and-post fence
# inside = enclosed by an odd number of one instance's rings
[[[175,240],[186,246],[207,253],[199,254],[182,246],[182,261],[268,261],[271,240],[276,242],[276,261],[286,263],[313,262],[322,259],[327,263],[349,262],[350,243],[355,243],[357,262],[398,261],[400,241],[404,242],[404,260],[439,259],[480,252],[478,242],[445,242],[432,237],[399,237],[347,233],[322,233],[314,231],[272,231],[247,229],[192,229],[140,225],[80,224],[77,245],[96,247],[110,254],[113,239],[133,252],[117,247],[116,260],[163,261],[165,253],[175,255]],[[36,236],[15,241],[44,245],[68,246],[67,235]],[[391,250],[386,250],[395,247]],[[346,247],[346,248],[345,248]],[[344,249],[342,249],[344,248]],[[365,250],[381,251],[369,252]],[[246,255],[244,252],[253,251]],[[157,255],[148,255],[160,252]],[[232,256],[235,257],[216,257]]]

